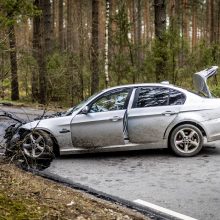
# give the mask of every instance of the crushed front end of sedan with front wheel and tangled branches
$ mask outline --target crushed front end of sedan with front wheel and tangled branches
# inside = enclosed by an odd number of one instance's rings
[[[16,122],[5,130],[5,159],[24,169],[48,168],[55,158],[50,137],[43,131],[24,129],[27,122],[16,116],[6,112],[1,116]]]

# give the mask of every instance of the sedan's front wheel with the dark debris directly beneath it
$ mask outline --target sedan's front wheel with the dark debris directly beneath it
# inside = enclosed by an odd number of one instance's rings
[[[21,166],[25,169],[44,170],[55,158],[53,140],[45,131],[35,130],[22,134],[20,149],[24,156]]]

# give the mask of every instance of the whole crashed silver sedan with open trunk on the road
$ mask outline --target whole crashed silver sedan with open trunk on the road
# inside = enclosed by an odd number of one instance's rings
[[[12,142],[19,139],[33,158],[52,149],[64,155],[168,147],[194,156],[220,140],[220,99],[206,83],[217,69],[194,74],[197,93],[168,82],[103,90],[59,116],[23,124]]]

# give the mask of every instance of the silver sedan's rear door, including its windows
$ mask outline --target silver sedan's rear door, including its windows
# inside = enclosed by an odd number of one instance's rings
[[[156,143],[178,115],[185,95],[167,87],[142,87],[136,90],[128,109],[128,134],[132,143]]]

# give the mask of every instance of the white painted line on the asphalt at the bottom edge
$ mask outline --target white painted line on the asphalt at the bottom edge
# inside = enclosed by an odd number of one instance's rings
[[[167,215],[170,215],[170,216],[173,216],[173,217],[176,217],[176,218],[179,218],[179,219],[183,219],[183,220],[197,220],[195,218],[192,218],[192,217],[180,214],[178,212],[174,212],[172,210],[163,208],[163,207],[158,206],[158,205],[154,205],[154,204],[152,204],[150,202],[146,202],[146,201],[141,200],[141,199],[136,199],[133,202],[138,203],[138,204],[143,205],[143,206],[147,206],[147,207],[149,207],[151,209],[157,210],[159,212],[165,213]]]

